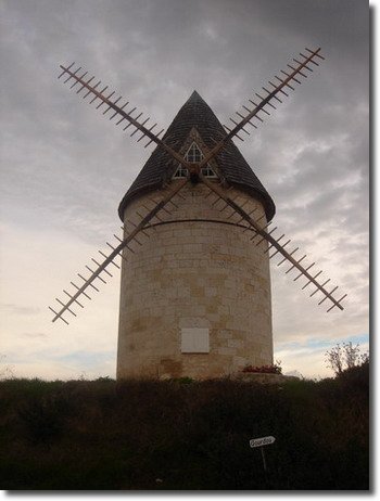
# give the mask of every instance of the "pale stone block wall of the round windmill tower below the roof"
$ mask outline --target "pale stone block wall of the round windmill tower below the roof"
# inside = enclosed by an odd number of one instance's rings
[[[178,181],[176,181],[178,182]],[[174,182],[172,183],[172,187]],[[204,184],[186,185],[168,205],[168,219],[238,222]],[[246,211],[262,205],[249,195],[228,195]],[[125,221],[138,223],[163,192],[131,202]],[[230,217],[231,216],[231,217]],[[265,224],[265,218],[261,223]],[[132,228],[127,224],[127,232]],[[271,299],[266,242],[223,222],[161,223],[138,236],[122,261],[117,377],[217,377],[246,364],[273,363]],[[258,237],[256,239],[256,241]],[[208,329],[208,352],[182,352],[182,329]],[[198,332],[198,331],[197,331]]]

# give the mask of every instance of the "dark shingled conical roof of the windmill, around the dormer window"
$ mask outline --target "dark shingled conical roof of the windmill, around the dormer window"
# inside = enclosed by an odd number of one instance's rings
[[[210,150],[215,145],[215,141],[226,133],[212,108],[197,91],[179,110],[163,139],[179,152],[193,128]],[[218,174],[229,184],[250,193],[263,203],[267,219],[270,220],[276,211],[274,201],[232,141],[220,151],[216,163]],[[176,168],[177,164],[173,163],[172,156],[157,146],[121,202],[118,207],[121,219],[124,219],[124,210],[132,198],[161,188],[164,182],[172,179]]]

